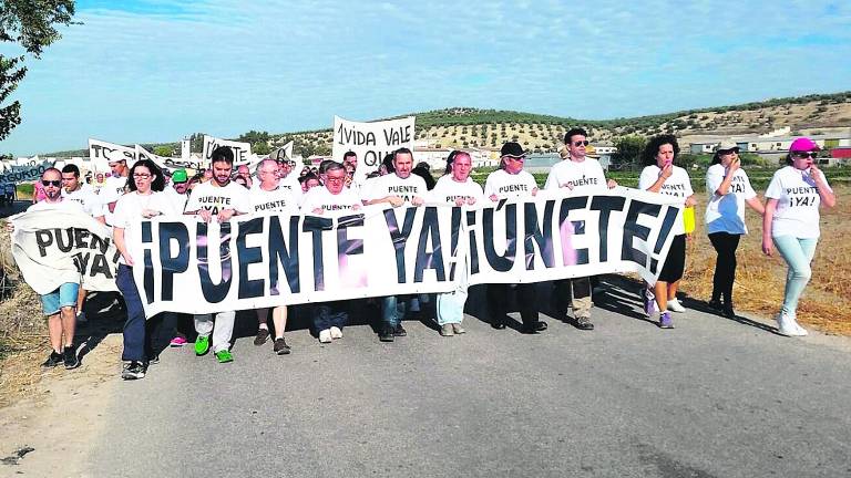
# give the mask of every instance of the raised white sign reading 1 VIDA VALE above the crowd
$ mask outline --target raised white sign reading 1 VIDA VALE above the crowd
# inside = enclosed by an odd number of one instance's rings
[[[385,156],[407,147],[413,150],[416,116],[375,123],[359,123],[334,117],[334,160],[352,150],[358,155],[358,170],[365,175],[378,169]]]

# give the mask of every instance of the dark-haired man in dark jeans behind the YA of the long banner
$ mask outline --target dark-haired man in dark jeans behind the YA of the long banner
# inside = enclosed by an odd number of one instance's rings
[[[373,178],[361,188],[363,204],[389,204],[397,208],[404,204],[421,206],[428,194],[426,181],[411,174],[413,169],[413,153],[408,148],[393,152],[394,172]],[[402,326],[402,319],[408,310],[410,297],[390,295],[381,302],[381,325],[378,339],[381,342],[392,342],[393,337],[406,336],[408,332]]]

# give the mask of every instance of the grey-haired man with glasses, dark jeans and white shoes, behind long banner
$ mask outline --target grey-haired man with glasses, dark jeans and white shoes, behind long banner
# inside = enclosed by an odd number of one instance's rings
[[[353,190],[346,187],[346,168],[331,162],[325,168],[325,185],[317,186],[305,195],[301,210],[305,214],[332,215],[360,209],[360,200]],[[352,301],[331,301],[316,305],[314,324],[319,342],[329,343],[342,339],[342,328],[349,320],[347,304]]]

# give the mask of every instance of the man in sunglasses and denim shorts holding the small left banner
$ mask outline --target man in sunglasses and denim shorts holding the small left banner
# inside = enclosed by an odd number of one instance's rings
[[[78,202],[62,197],[62,173],[59,169],[52,167],[44,170],[40,183],[44,187],[44,199],[30,206],[27,212],[51,210],[65,214],[71,209],[82,211]],[[65,368],[71,370],[80,365],[74,347],[79,289],[79,282],[65,282],[53,292],[41,295],[41,308],[48,316],[48,334],[52,347],[50,356],[41,364],[42,367],[64,364]]]

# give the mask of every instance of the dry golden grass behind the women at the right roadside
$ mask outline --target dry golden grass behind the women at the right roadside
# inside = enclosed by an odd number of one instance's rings
[[[812,263],[812,279],[798,305],[798,319],[827,333],[851,335],[851,202],[845,198],[851,188],[835,189],[838,205],[821,214],[821,239]],[[704,196],[704,195],[701,195]],[[698,217],[706,207],[699,197]],[[738,269],[734,287],[737,310],[773,316],[783,301],[786,262],[779,254],[768,258],[761,250],[761,218],[748,211],[748,230],[739,243]],[[688,246],[688,263],[683,291],[696,299],[708,300],[712,291],[715,250],[698,224],[695,240]]]

